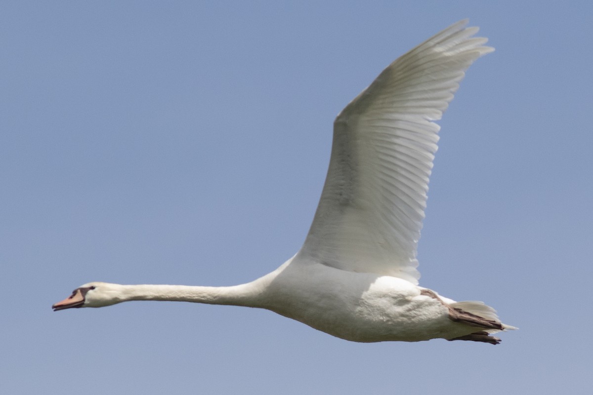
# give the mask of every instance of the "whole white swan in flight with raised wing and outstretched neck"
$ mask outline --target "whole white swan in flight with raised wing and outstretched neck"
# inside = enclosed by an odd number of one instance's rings
[[[420,287],[416,245],[441,119],[465,70],[493,51],[468,20],[395,60],[334,121],[326,182],[304,245],[231,287],[89,282],[56,310],[130,300],[259,307],[355,342],[435,338],[498,344],[516,329],[480,301]]]

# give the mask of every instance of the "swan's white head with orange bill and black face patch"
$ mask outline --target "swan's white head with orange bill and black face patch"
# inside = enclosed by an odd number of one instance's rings
[[[120,303],[121,285],[107,282],[89,282],[72,291],[72,295],[52,306],[53,311],[72,309],[73,307],[103,307]]]

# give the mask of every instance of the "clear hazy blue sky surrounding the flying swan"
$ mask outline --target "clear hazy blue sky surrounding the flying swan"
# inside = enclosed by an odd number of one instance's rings
[[[335,115],[463,18],[496,52],[440,122],[420,284],[495,307],[521,328],[502,344],[50,309],[88,281],[275,269],[310,226]],[[7,1],[0,40],[0,393],[591,394],[592,2]]]

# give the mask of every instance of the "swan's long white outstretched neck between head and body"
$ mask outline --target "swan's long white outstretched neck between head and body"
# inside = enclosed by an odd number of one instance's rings
[[[192,287],[189,285],[121,285],[118,302],[129,300],[187,301],[235,306],[258,306],[262,289],[248,283],[232,287]]]

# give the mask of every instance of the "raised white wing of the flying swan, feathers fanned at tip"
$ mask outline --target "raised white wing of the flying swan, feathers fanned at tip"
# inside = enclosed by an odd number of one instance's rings
[[[334,121],[326,183],[299,255],[414,284],[443,111],[465,70],[492,52],[460,21],[391,63]]]

